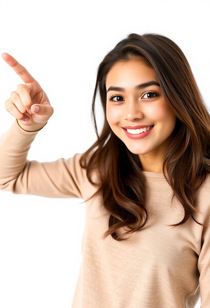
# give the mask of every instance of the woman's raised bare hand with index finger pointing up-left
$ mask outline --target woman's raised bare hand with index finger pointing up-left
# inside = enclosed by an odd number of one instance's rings
[[[11,93],[5,102],[6,110],[18,120],[24,130],[37,131],[41,129],[53,114],[53,107],[48,96],[17,60],[7,53],[3,53],[2,58],[24,82]]]

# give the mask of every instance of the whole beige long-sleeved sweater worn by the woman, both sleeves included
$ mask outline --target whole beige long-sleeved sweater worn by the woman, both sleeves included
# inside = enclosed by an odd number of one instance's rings
[[[15,122],[0,139],[0,188],[45,197],[87,199],[95,191],[80,154],[40,163],[26,161],[36,132]],[[162,174],[144,172],[150,219],[128,241],[107,230],[101,197],[86,202],[82,264],[72,308],[210,308],[210,176],[198,193],[199,214],[183,226],[183,208],[171,202]]]

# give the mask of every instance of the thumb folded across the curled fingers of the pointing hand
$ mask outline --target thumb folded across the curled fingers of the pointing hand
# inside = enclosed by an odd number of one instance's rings
[[[29,112],[29,111],[28,111]],[[53,114],[53,107],[49,104],[33,104],[30,107],[32,118],[37,123],[47,122]]]

